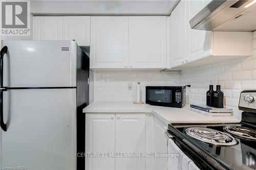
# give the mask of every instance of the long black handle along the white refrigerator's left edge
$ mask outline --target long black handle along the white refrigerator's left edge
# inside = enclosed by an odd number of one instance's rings
[[[3,78],[4,78],[4,55],[7,53],[8,47],[4,46],[0,51],[0,126],[4,131],[7,131],[7,126],[4,123],[4,91],[7,90],[6,87],[3,87]]]

